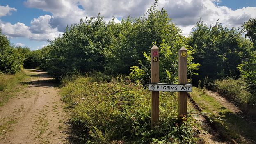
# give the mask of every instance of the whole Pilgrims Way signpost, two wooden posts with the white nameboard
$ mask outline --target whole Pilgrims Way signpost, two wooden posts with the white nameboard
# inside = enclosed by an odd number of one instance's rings
[[[151,127],[159,121],[159,91],[178,91],[178,117],[187,115],[187,92],[192,92],[192,85],[187,85],[187,49],[182,47],[178,52],[178,83],[163,84],[159,82],[159,49],[151,48]]]

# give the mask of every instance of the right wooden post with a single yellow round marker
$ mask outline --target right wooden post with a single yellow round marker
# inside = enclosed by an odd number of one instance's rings
[[[187,84],[187,49],[182,47],[178,51],[178,82]],[[187,92],[178,92],[178,116],[187,115]]]

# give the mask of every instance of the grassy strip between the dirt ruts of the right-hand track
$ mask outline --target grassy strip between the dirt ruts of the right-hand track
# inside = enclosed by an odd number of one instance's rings
[[[225,137],[235,139],[241,144],[256,142],[256,126],[253,121],[231,112],[215,98],[196,87],[193,87],[191,97]]]

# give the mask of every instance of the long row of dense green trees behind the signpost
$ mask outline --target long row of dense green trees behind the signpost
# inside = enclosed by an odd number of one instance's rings
[[[249,39],[242,37],[242,32]],[[151,6],[139,18],[105,21],[100,14],[67,26],[61,37],[41,50],[10,46],[0,35],[0,72],[16,73],[21,65],[39,66],[55,78],[77,73],[101,72],[129,75],[131,80],[149,82],[150,48],[160,48],[160,82],[177,82],[178,50],[188,49],[188,78],[194,85],[208,78],[238,78],[242,59],[256,61],[255,18],[240,29],[223,27],[217,21],[208,26],[200,18],[185,37],[165,9]],[[10,54],[13,53],[13,54]]]

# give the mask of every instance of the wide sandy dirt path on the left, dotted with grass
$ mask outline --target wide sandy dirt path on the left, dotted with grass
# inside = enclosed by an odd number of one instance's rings
[[[52,79],[39,70],[25,70],[33,78],[27,88],[0,107],[0,144],[69,143],[66,113]]]

